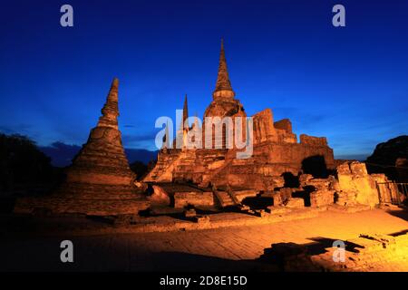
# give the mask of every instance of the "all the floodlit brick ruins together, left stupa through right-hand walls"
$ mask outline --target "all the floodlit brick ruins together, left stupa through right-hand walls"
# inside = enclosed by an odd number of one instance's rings
[[[204,113],[204,130],[199,135],[204,143],[219,143],[219,149],[173,149],[170,140],[165,140],[154,168],[135,182],[121,144],[118,116],[115,79],[97,126],[67,169],[61,187],[46,197],[18,198],[15,212],[127,216],[153,205],[189,210],[237,207],[264,217],[305,207],[353,211],[361,206],[374,208],[386,200],[376,188],[378,182],[389,181],[384,174],[368,174],[364,163],[334,160],[325,137],[301,134],[297,141],[291,122],[274,122],[270,109],[252,116],[253,154],[248,158],[239,159],[238,148],[227,148],[226,130],[221,136],[213,132],[206,140],[206,117],[247,117],[229,82],[223,44],[213,101]],[[178,138],[185,144],[189,133],[200,129],[197,118],[191,127],[184,126],[188,117],[186,96],[173,144]],[[244,133],[247,137],[248,132]],[[397,195],[396,189],[386,190],[390,192],[384,195]]]

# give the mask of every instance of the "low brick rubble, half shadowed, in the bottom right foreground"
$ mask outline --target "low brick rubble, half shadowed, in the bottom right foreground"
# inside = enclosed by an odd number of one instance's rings
[[[277,243],[266,248],[259,260],[266,263],[266,268],[277,266],[278,270],[286,272],[406,271],[408,234],[395,237],[360,235],[344,243],[344,251],[339,247],[325,247],[322,254],[313,250],[318,242]]]

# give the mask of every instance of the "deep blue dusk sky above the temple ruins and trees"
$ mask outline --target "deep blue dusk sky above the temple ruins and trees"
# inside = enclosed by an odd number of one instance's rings
[[[155,150],[157,117],[175,118],[185,93],[190,114],[211,102],[221,37],[249,115],[271,108],[337,157],[408,133],[406,0],[16,0],[0,13],[0,131],[40,145],[83,144],[117,76],[125,147]]]

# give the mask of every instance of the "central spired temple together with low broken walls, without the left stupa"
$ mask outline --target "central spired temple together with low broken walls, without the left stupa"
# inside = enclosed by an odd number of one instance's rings
[[[228,77],[224,46],[221,43],[219,73],[213,101],[204,113],[201,138],[205,138],[206,117],[247,117],[243,105],[235,99]],[[282,208],[323,208],[340,206],[374,208],[380,204],[376,182],[388,182],[384,174],[367,173],[364,163],[335,160],[333,150],[325,137],[301,134],[299,141],[288,119],[275,121],[270,109],[257,112],[253,117],[253,155],[238,159],[236,148],[226,148],[228,132],[221,131],[221,149],[168,148],[159,151],[153,169],[143,179],[155,184],[151,198],[168,194],[172,206],[211,207],[244,205],[250,198],[267,200],[258,215]],[[183,126],[188,118],[187,97],[183,108],[183,122],[177,138],[189,138]],[[168,135],[166,135],[168,136]],[[212,140],[216,143],[212,135]],[[173,144],[176,143],[174,140]],[[181,189],[177,184],[189,184]],[[209,198],[212,193],[213,198]],[[249,210],[253,212],[253,210]]]

